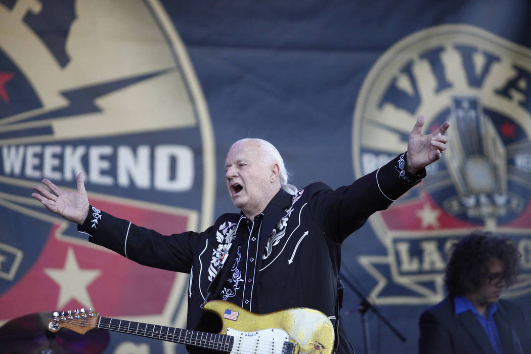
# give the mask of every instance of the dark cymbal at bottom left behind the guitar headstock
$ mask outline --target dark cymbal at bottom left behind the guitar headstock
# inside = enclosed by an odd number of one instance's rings
[[[99,354],[107,348],[109,332],[93,329],[79,334],[68,329],[48,331],[52,312],[40,312],[14,318],[0,327],[0,346],[3,353],[22,354]]]

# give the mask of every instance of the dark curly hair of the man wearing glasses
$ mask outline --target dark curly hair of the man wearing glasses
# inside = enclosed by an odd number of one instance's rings
[[[464,295],[479,289],[487,281],[490,263],[495,259],[503,263],[501,280],[507,287],[514,284],[520,274],[520,253],[510,238],[474,231],[454,244],[451,251],[444,283],[452,295]]]

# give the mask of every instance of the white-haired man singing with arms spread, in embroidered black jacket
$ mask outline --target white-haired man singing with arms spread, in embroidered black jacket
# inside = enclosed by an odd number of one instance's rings
[[[336,190],[323,183],[301,189],[289,185],[273,145],[239,140],[227,153],[225,178],[241,212],[222,214],[202,232],[163,236],[100,211],[89,205],[81,174],[75,192],[66,193],[44,179],[49,190],[36,185],[32,196],[49,211],[78,223],[92,243],[140,264],[190,273],[189,329],[219,331],[217,317],[203,310],[213,299],[255,314],[309,307],[330,318],[335,333],[334,348],[320,350],[352,353],[339,318],[341,243],[372,213],[388,208],[418,183],[425,166],[440,159],[449,123],[426,135],[423,125],[424,117],[419,116],[407,152]]]

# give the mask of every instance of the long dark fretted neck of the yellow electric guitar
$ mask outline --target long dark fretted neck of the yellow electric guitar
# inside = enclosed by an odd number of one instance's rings
[[[148,323],[117,320],[116,318],[102,316],[100,316],[98,320],[97,327],[109,331],[129,333],[148,338],[165,340],[168,342],[187,344],[189,346],[225,352],[230,352],[234,344],[234,337],[231,335],[207,333]]]

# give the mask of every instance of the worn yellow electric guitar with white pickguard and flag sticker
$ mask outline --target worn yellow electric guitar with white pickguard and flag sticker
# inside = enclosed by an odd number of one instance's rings
[[[102,317],[91,309],[54,312],[48,330],[63,327],[85,334],[93,328],[129,333],[229,353],[331,354],[334,330],[318,310],[297,307],[265,315],[253,314],[232,303],[209,301],[204,309],[221,319],[219,334]]]

